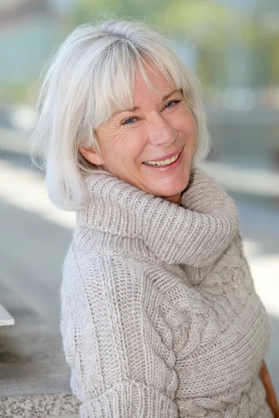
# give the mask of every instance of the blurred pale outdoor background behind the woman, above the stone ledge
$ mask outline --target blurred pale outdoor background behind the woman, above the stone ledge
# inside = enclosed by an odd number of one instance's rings
[[[40,71],[75,26],[100,13],[140,17],[165,33],[202,82],[213,139],[203,166],[239,208],[246,256],[273,323],[266,361],[279,396],[278,0],[0,2],[0,302],[16,316],[17,297],[47,332],[58,332],[75,215],[48,201],[28,141]]]

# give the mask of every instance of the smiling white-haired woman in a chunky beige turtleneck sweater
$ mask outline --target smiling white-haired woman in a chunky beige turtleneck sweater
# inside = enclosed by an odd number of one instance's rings
[[[34,140],[50,199],[77,212],[61,334],[81,417],[272,417],[269,318],[234,202],[197,168],[199,86],[167,40],[123,20],[73,31]]]

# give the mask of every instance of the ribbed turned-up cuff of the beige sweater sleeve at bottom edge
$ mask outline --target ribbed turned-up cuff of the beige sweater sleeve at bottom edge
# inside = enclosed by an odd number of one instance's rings
[[[177,405],[162,392],[138,382],[114,386],[80,406],[81,418],[178,418]]]

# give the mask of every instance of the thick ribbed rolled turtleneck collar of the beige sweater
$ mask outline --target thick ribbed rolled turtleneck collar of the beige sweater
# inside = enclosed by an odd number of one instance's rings
[[[77,225],[123,238],[138,238],[161,261],[207,267],[225,251],[238,228],[234,201],[200,169],[190,173],[181,206],[123,180],[94,173]]]

